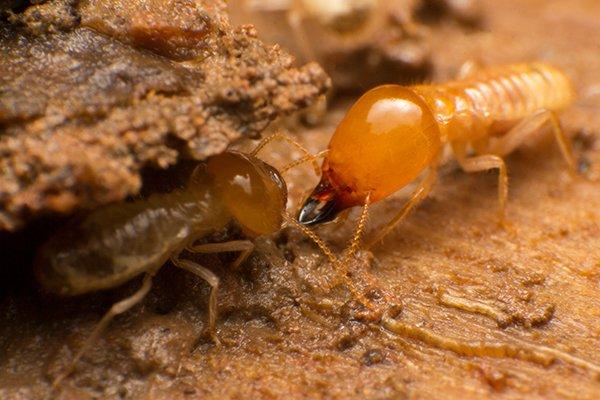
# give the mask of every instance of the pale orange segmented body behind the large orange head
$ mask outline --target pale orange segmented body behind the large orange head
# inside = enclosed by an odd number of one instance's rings
[[[482,69],[463,80],[415,89],[449,140],[490,135],[497,122],[516,122],[542,109],[560,111],[575,98],[569,78],[544,63]]]

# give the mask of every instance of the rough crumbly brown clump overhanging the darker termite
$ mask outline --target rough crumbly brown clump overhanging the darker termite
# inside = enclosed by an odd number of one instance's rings
[[[253,28],[229,28],[221,2],[168,26],[120,23],[166,18],[163,3],[48,2],[0,26],[0,230],[135,194],[142,168],[221,152],[327,89],[315,64],[292,68]]]

